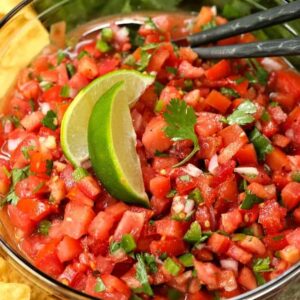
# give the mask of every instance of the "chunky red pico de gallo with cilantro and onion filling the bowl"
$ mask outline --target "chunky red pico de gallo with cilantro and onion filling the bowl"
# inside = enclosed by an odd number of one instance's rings
[[[37,268],[104,300],[199,300],[253,290],[299,262],[299,73],[171,43],[226,22],[202,7],[138,31],[112,24],[22,71],[1,117],[0,193]],[[148,208],[114,199],[60,145],[72,99],[117,69],[156,76],[131,109]]]

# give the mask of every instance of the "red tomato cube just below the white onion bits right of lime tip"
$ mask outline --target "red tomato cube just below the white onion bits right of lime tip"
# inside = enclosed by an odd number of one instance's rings
[[[182,238],[187,230],[187,224],[171,219],[162,219],[155,222],[157,233],[162,236]]]

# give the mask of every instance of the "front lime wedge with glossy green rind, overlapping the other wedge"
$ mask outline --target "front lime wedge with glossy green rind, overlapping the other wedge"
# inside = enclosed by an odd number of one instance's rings
[[[149,206],[135,148],[129,97],[121,81],[97,101],[89,120],[89,154],[97,177],[112,196]]]

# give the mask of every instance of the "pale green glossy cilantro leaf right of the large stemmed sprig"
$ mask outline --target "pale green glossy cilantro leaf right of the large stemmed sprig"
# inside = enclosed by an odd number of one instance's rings
[[[226,122],[229,125],[238,124],[246,125],[252,123],[255,119],[251,114],[256,113],[257,108],[250,100],[246,100],[238,106],[238,108],[227,117]]]

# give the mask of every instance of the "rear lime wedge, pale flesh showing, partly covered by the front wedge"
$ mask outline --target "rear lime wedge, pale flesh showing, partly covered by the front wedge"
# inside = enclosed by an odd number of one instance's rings
[[[113,71],[91,82],[76,96],[61,124],[62,150],[74,166],[80,166],[89,157],[87,128],[95,103],[102,94],[119,81],[124,81],[126,99],[132,106],[153,83],[154,77],[132,70]]]

